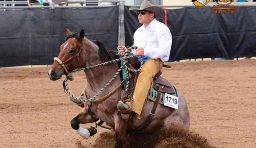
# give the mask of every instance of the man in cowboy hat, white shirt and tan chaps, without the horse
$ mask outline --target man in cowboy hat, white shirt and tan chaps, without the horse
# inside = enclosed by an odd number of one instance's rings
[[[117,103],[117,109],[121,112],[123,119],[128,119],[131,111],[140,115],[148,95],[148,90],[152,86],[153,77],[162,69],[163,62],[169,60],[172,36],[169,28],[156,19],[162,19],[165,12],[153,2],[144,0],[140,8],[129,8],[138,14],[139,23],[143,24],[133,35],[134,46],[133,55],[143,58],[143,67],[139,72],[135,86],[133,101]],[[127,48],[120,46],[120,51],[124,52]]]

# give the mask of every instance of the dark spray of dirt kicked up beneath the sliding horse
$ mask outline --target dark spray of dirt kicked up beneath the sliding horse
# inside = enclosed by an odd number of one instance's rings
[[[102,132],[90,147],[77,144],[77,148],[114,148],[114,132]],[[194,132],[179,129],[159,130],[152,134],[129,134],[124,148],[217,148]]]

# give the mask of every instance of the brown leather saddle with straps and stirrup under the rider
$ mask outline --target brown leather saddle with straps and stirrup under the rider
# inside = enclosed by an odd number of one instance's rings
[[[135,60],[137,61],[137,60]],[[129,61],[129,64],[131,64],[131,66],[135,67],[135,68],[139,68],[139,66],[137,65],[136,62],[134,61]],[[166,68],[171,68],[171,66],[168,65],[163,65],[163,67]],[[139,127],[137,127],[135,129],[135,131],[138,130],[142,130],[144,128],[146,128],[148,125],[150,125],[150,123],[153,121],[154,119],[154,114],[156,112],[156,108],[158,106],[158,103],[160,101],[160,96],[161,93],[168,93],[168,94],[175,94],[175,90],[172,86],[172,84],[166,79],[163,78],[162,76],[162,70],[160,70],[154,77],[153,77],[153,88],[155,90],[158,91],[157,96],[156,96],[156,101],[154,102],[153,108],[151,113],[148,115],[147,119],[142,123],[142,125],[140,125]],[[135,88],[136,86],[136,82],[137,82],[137,77],[138,77],[138,72],[135,72],[133,74],[133,77],[131,78],[130,82],[129,82],[129,86],[130,88]],[[130,92],[127,93],[127,95],[123,98],[123,101],[125,102],[130,102],[132,101],[132,96],[133,96],[133,89],[130,90]],[[129,114],[131,113],[130,111],[121,111],[120,113],[123,114]]]

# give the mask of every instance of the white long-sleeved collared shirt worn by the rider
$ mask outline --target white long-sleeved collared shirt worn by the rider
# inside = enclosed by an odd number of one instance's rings
[[[162,62],[169,60],[172,36],[170,29],[164,23],[154,19],[146,28],[142,25],[135,31],[133,39],[133,45],[144,49],[144,56],[152,59],[160,58]],[[133,55],[135,52],[133,49]]]

